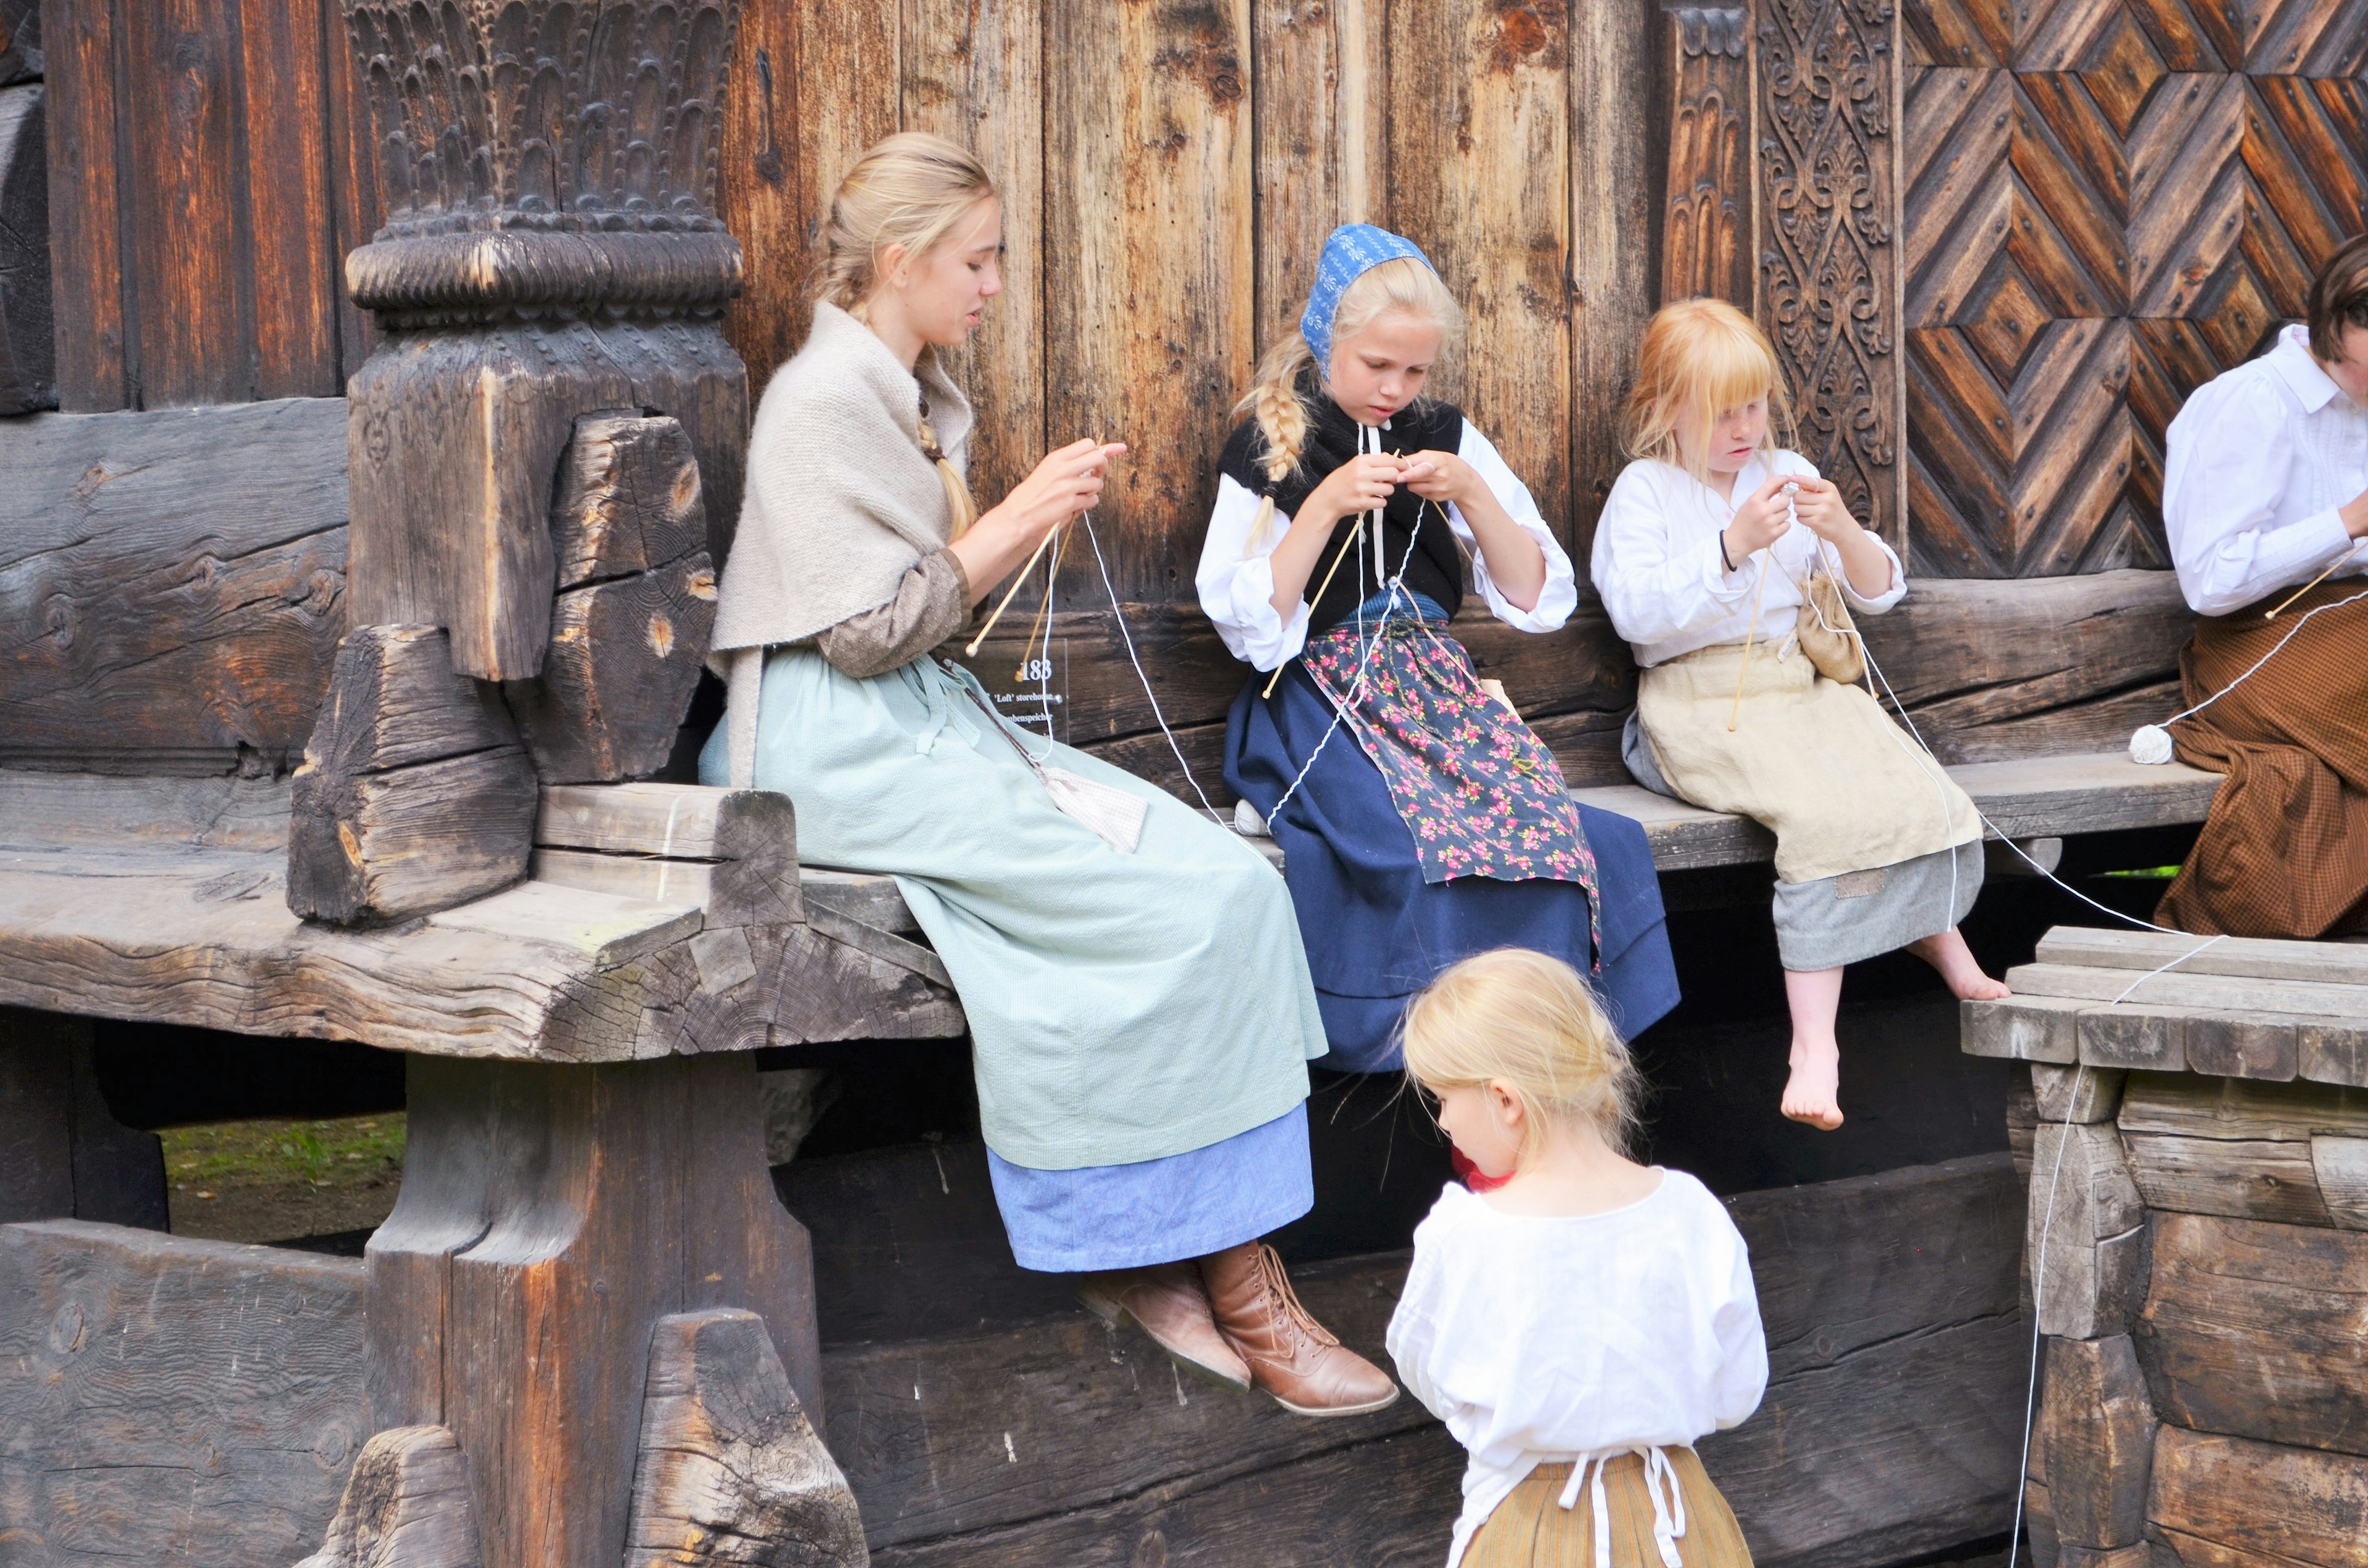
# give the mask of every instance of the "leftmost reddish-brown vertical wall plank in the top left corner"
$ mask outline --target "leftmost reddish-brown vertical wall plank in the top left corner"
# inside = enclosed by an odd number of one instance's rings
[[[128,405],[121,189],[116,182],[116,12],[107,0],[43,0],[50,104],[50,261],[57,298],[57,405]]]

